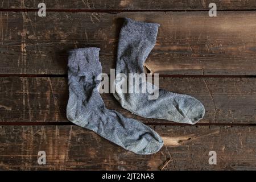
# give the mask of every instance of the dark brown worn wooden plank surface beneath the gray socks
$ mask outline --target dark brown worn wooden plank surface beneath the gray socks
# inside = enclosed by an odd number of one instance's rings
[[[47,16],[39,17],[39,2]],[[217,17],[208,4],[217,4]],[[256,169],[256,2],[0,1],[0,169]],[[67,51],[96,46],[115,67],[122,18],[160,23],[145,67],[160,88],[189,94],[206,114],[196,126],[147,119],[102,94],[109,109],[163,137],[155,155],[135,155],[65,117]],[[38,152],[47,164],[39,165]],[[217,165],[208,163],[217,152]]]

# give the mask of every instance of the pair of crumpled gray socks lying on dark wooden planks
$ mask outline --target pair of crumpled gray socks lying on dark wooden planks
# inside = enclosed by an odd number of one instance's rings
[[[119,36],[116,73],[144,73],[143,64],[155,45],[158,27],[156,23],[125,19]],[[69,51],[67,118],[136,154],[158,152],[163,140],[154,130],[106,109],[98,93],[97,77],[102,73],[99,51],[95,47]],[[115,81],[115,84],[120,82]],[[149,93],[114,93],[123,108],[146,118],[195,124],[205,113],[201,102],[191,96],[162,89],[156,100],[149,100],[148,96]]]

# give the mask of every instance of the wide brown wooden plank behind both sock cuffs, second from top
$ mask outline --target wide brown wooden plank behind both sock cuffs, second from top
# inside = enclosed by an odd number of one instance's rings
[[[122,17],[158,22],[146,60],[167,75],[256,75],[256,11],[139,13],[0,13],[0,74],[65,74],[67,51],[101,48],[105,73],[115,67]]]

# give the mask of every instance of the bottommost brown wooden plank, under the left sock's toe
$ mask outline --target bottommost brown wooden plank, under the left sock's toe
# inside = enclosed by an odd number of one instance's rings
[[[246,170],[256,169],[255,126],[156,126],[164,147],[136,155],[78,126],[0,126],[0,169]],[[46,165],[38,152],[46,152]],[[217,164],[210,165],[209,151]]]

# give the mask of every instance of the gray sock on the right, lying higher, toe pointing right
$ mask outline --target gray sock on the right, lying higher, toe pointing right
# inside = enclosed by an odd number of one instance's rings
[[[125,19],[119,35],[116,74],[124,73],[128,78],[128,73],[144,73],[143,64],[155,45],[158,27],[157,23]],[[203,104],[191,96],[162,89],[156,100],[148,100],[148,96],[149,93],[114,93],[123,108],[145,118],[195,124],[204,117]]]

